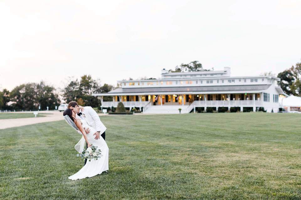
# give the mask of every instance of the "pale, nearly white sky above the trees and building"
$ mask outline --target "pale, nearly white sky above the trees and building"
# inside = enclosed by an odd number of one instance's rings
[[[0,89],[63,88],[159,78],[198,60],[232,76],[279,73],[301,61],[301,1],[0,0]]]

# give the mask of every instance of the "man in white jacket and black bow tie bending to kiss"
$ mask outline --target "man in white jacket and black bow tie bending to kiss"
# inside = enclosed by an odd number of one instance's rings
[[[79,107],[76,101],[71,101],[68,103],[68,108],[70,108],[74,113],[76,113],[76,117],[80,119],[84,119],[87,123],[97,130],[93,135],[95,135],[95,139],[99,139],[99,136],[103,137],[105,140],[107,129],[103,123],[100,121],[98,114],[91,106]],[[81,109],[83,108],[83,109]],[[90,130],[85,130],[86,133],[89,133]],[[78,133],[81,134],[80,131]],[[87,145],[88,147],[88,145]],[[87,163],[87,159],[85,159],[85,164]],[[84,164],[84,165],[85,165]]]

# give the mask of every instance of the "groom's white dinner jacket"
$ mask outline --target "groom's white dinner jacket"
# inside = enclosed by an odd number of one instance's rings
[[[100,121],[98,114],[91,106],[85,106],[84,110],[80,110],[82,113],[81,116],[78,116],[76,114],[77,119],[84,119],[87,121],[88,125],[95,128],[96,131],[100,131],[100,134],[103,134],[103,132],[107,129],[103,123]],[[80,131],[77,131],[79,134],[82,134]],[[94,134],[94,133],[92,133]]]

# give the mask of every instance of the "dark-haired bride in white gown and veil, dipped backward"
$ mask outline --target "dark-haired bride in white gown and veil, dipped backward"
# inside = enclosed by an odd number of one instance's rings
[[[82,138],[81,140],[75,145],[75,149],[79,152],[82,153],[84,146],[85,146],[85,141],[87,141],[88,147],[93,144],[94,146],[97,146],[98,149],[101,150],[102,156],[98,158],[98,160],[91,160],[87,161],[87,163],[75,174],[72,176],[68,177],[71,180],[77,180],[77,179],[82,179],[82,178],[87,178],[87,177],[93,177],[97,174],[101,174],[102,172],[106,171],[109,169],[109,148],[107,143],[104,141],[102,137],[99,137],[98,140],[94,138],[92,134],[86,134],[85,129],[90,128],[91,133],[95,133],[96,130],[89,126],[87,124],[86,120],[80,120],[76,119],[75,113],[67,108],[63,116],[66,120],[66,122],[75,130],[79,130],[82,133]]]

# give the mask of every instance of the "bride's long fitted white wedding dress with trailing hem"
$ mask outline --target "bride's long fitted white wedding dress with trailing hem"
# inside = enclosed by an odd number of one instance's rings
[[[81,120],[81,122],[83,128],[90,128],[90,133],[87,134],[89,143],[97,146],[97,148],[101,150],[101,154],[103,156],[98,158],[98,160],[87,160],[87,163],[77,173],[68,177],[71,180],[92,177],[109,169],[109,148],[107,143],[101,136],[98,140],[94,139],[95,135],[93,134],[96,132],[96,130],[89,126],[86,120]]]

